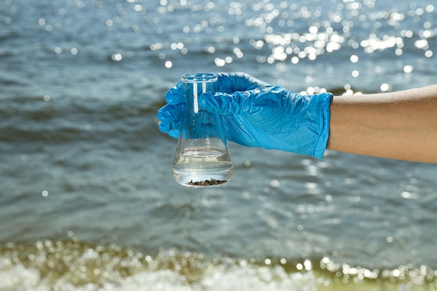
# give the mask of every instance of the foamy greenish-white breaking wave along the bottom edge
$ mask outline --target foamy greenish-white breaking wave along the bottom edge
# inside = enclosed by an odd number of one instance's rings
[[[329,258],[206,258],[116,245],[37,241],[0,247],[0,290],[436,290],[426,266],[366,269]]]

